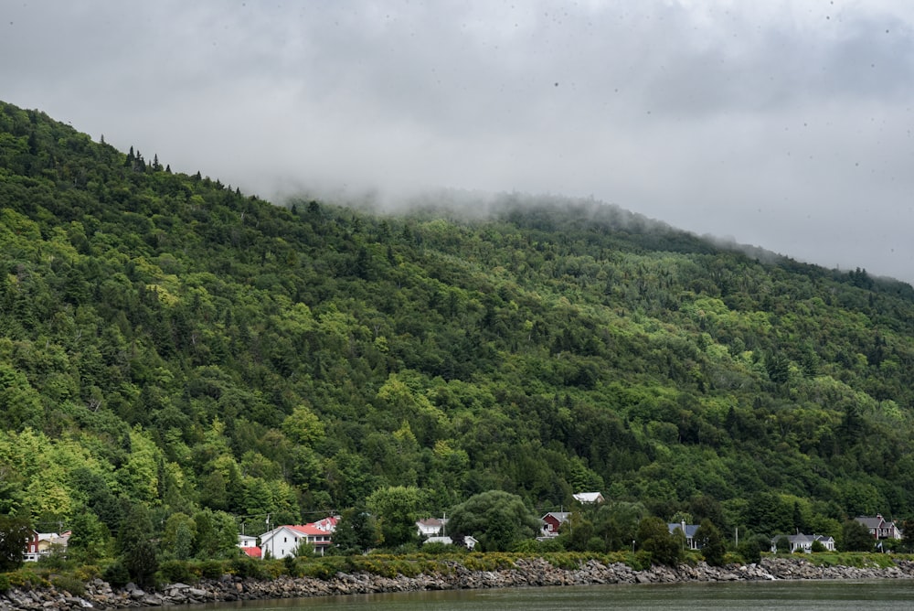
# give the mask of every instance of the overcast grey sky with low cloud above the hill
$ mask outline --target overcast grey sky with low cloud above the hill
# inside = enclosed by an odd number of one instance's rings
[[[9,0],[0,28],[0,99],[246,193],[592,196],[914,282],[909,0]]]

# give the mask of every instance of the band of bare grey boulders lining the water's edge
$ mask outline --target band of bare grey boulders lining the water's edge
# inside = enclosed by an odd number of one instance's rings
[[[623,563],[602,564],[590,560],[577,569],[560,569],[543,559],[521,559],[511,569],[471,571],[451,563],[449,573],[382,577],[370,573],[336,573],[329,580],[282,576],[272,580],[242,579],[223,575],[194,585],[166,584],[154,592],[128,584],[114,589],[95,579],[85,593],[71,595],[56,588],[11,589],[0,595],[0,611],[19,609],[123,609],[140,606],[183,606],[271,598],[460,590],[544,585],[673,584],[685,582],[738,582],[783,579],[911,579],[914,561],[898,560],[889,568],[816,566],[804,558],[771,557],[759,564],[711,567],[706,563],[683,564],[675,569],[654,566],[635,571]]]

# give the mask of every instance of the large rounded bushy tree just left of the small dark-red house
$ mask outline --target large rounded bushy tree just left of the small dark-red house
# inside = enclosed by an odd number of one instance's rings
[[[473,495],[452,509],[448,531],[472,535],[485,552],[505,552],[515,541],[537,535],[539,520],[524,500],[503,490]]]

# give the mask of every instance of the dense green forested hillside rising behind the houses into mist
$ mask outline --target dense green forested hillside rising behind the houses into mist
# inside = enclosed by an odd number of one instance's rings
[[[164,161],[0,104],[0,513],[96,539],[392,487],[729,532],[911,513],[908,284],[598,202],[280,207]]]

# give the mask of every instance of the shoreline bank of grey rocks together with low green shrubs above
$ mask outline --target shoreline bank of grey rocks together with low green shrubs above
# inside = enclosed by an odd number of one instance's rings
[[[244,600],[430,590],[598,584],[674,584],[775,580],[914,578],[908,554],[766,554],[760,563],[709,566],[697,556],[675,567],[639,564],[634,554],[561,552],[460,556],[324,558],[173,563],[142,589],[112,586],[95,567],[54,573],[47,567],[0,574],[0,611],[122,609]]]

